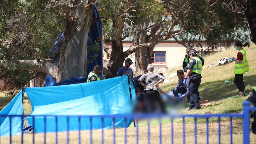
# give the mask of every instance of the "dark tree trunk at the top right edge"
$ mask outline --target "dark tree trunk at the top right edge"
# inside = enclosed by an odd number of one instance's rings
[[[251,41],[256,44],[256,1],[247,0],[245,15],[251,30]]]

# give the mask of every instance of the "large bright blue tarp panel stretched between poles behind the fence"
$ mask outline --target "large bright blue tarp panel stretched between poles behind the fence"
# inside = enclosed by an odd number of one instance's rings
[[[131,81],[130,81],[131,82]],[[79,83],[63,86],[24,88],[32,105],[30,115],[115,115],[132,112],[127,75],[90,83]],[[135,90],[131,86],[132,99],[135,100]],[[44,118],[27,117],[34,125],[36,133],[44,132]],[[69,130],[78,130],[77,117],[69,118]],[[112,127],[112,119],[104,118],[104,129]],[[124,119],[116,118],[116,127],[124,127]],[[127,125],[132,120],[127,120]],[[34,124],[33,124],[34,123]],[[80,129],[90,129],[90,119],[80,119]],[[67,130],[67,118],[57,118],[57,131]],[[92,118],[92,128],[101,129],[101,118]],[[46,132],[56,132],[55,117],[46,118]]]

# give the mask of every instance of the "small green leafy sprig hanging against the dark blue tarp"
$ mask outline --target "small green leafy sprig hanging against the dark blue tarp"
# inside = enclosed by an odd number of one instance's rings
[[[92,45],[87,45],[87,61],[86,61],[87,64],[93,63],[93,61],[99,55],[99,43],[97,41],[92,43],[92,39],[89,39],[89,43]]]

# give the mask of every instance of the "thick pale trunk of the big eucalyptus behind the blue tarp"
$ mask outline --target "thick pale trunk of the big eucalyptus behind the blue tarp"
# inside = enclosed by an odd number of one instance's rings
[[[75,18],[69,29],[64,30],[64,44],[60,50],[58,64],[59,78],[56,82],[70,77],[86,77],[87,37],[90,30],[95,0],[77,1]]]

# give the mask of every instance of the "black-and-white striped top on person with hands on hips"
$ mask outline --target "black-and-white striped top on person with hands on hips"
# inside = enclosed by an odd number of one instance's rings
[[[145,81],[145,84],[147,85],[145,90],[159,91],[158,87],[154,88],[154,84],[156,84],[160,79],[165,80],[165,77],[156,73],[146,73],[138,79],[138,82],[141,84],[143,80]]]

